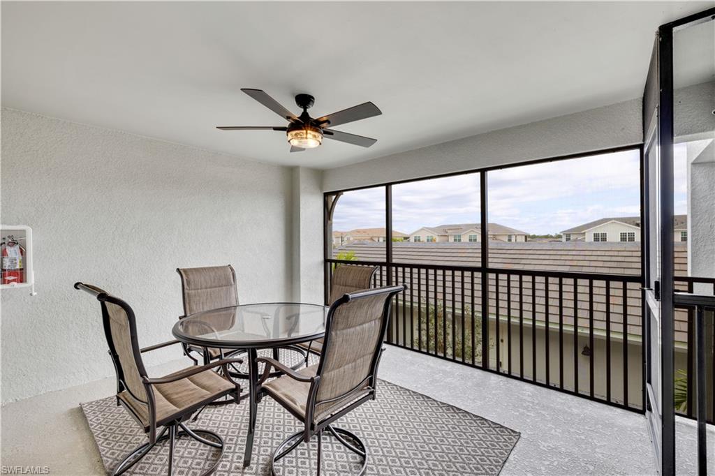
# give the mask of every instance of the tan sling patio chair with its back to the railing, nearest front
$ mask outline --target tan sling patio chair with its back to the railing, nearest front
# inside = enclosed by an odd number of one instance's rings
[[[325,340],[320,362],[300,371],[277,360],[259,358],[265,363],[259,395],[265,392],[303,424],[303,430],[287,437],[273,452],[275,463],[295,450],[301,442],[317,436],[317,474],[320,475],[322,433],[327,430],[362,462],[360,475],[368,465],[368,448],[357,435],[333,423],[376,396],[378,365],[383,340],[392,312],[393,296],[407,289],[400,286],[365,289],[343,294],[327,313]],[[267,382],[271,368],[285,373]]]

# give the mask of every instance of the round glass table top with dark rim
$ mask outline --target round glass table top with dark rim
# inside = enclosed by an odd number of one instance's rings
[[[327,307],[300,302],[265,302],[198,312],[179,319],[172,334],[206,347],[278,347],[320,339]]]

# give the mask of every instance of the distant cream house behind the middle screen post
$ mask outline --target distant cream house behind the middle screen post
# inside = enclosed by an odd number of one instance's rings
[[[526,232],[490,223],[487,227],[489,239],[501,242],[526,242]],[[480,242],[481,225],[479,223],[443,224],[437,227],[422,227],[410,233],[410,242]]]

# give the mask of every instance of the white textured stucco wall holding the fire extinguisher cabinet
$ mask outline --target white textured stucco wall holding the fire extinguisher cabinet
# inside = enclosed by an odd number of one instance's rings
[[[242,302],[290,299],[290,169],[7,109],[1,132],[2,222],[33,228],[38,292],[2,292],[2,402],[113,375],[76,281],[126,299],[142,345],[172,338],[177,267],[231,263]]]

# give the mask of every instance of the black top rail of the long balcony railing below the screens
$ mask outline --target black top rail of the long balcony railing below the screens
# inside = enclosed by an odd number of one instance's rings
[[[594,281],[618,281],[618,282],[636,282],[640,283],[643,280],[640,274],[603,274],[603,273],[580,273],[580,272],[562,272],[562,271],[544,271],[539,269],[511,269],[511,268],[493,268],[484,269],[480,266],[455,266],[452,264],[419,264],[419,263],[400,263],[382,261],[355,261],[350,259],[333,259],[325,260],[329,263],[337,264],[356,264],[358,266],[391,266],[398,268],[413,268],[413,269],[437,269],[445,271],[464,271],[464,272],[483,272],[490,274],[514,274],[533,277],[548,277],[548,278],[565,278],[565,279],[592,279]]]

